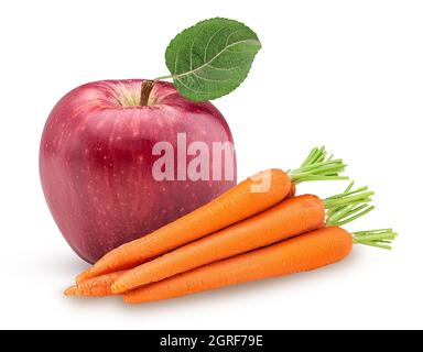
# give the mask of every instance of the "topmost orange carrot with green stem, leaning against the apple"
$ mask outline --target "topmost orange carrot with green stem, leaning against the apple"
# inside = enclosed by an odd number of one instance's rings
[[[332,160],[332,156],[326,158],[324,147],[314,148],[300,168],[286,173],[273,168],[247,178],[193,212],[147,237],[110,251],[94,266],[78,275],[76,282],[133,267],[247,219],[286,198],[293,190],[292,184],[345,179],[347,177],[338,176],[344,168],[341,160]]]

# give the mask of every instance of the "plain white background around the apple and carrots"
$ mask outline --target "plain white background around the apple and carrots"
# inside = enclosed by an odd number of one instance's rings
[[[64,297],[86,264],[40,186],[50,110],[87,81],[166,74],[169,41],[216,15],[263,45],[245,84],[215,101],[240,177],[325,144],[377,191],[377,211],[348,229],[393,227],[394,250],[356,246],[316,272],[156,304]],[[423,328],[422,19],[422,1],[1,1],[0,328]]]

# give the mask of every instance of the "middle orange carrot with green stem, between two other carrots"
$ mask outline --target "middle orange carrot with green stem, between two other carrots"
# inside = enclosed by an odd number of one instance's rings
[[[325,208],[328,212],[332,211],[326,224],[344,222],[351,217],[350,210],[354,209],[344,210],[347,218],[344,217],[344,213],[339,216],[338,210],[334,212],[334,209],[339,207],[345,209],[350,205],[349,201],[352,197],[352,202],[358,202],[355,209],[359,209],[359,212],[352,211],[354,216],[362,213],[362,206],[365,205],[361,206],[361,202],[370,200],[368,197],[372,193],[367,191],[366,187],[361,189],[364,190],[360,193],[356,193],[356,190],[351,193],[348,189],[347,196],[343,193],[327,200],[321,200],[313,195],[284,200],[247,220],[129,270],[116,280],[111,292],[122,294],[141,285],[159,282],[198,266],[323,228],[325,226]],[[337,217],[335,218],[334,215]]]

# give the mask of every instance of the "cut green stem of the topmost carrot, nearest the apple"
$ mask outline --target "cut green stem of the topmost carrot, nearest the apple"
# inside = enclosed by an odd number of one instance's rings
[[[299,168],[290,170],[289,175],[295,184],[311,180],[348,179],[347,176],[339,176],[345,167],[341,158],[333,160],[333,155],[327,157],[327,152],[322,146],[314,147],[303,164]]]

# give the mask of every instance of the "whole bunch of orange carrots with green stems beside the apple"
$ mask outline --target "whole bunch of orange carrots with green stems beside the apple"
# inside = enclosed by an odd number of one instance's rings
[[[348,233],[373,209],[367,187],[319,199],[295,185],[346,179],[345,164],[314,148],[301,167],[269,169],[209,204],[100,258],[66,289],[68,296],[123,295],[127,302],[184,296],[282,276],[340,261],[352,243],[389,249],[391,229]]]

